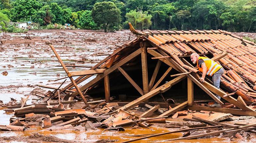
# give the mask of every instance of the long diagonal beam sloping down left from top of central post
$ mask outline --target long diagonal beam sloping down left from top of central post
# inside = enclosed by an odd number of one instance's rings
[[[102,78],[104,78],[106,75],[110,74],[111,72],[113,72],[114,70],[116,70],[119,66],[122,66],[123,64],[127,63],[128,61],[130,61],[131,59],[133,59],[134,57],[138,56],[141,53],[141,50],[138,49],[135,52],[133,52],[132,54],[128,55],[127,57],[125,57],[124,59],[122,59],[121,61],[119,61],[118,63],[114,64],[112,67],[110,67],[109,69],[107,69],[104,73],[102,74],[98,74],[98,76],[96,78],[94,78],[93,80],[89,81],[87,84],[83,85],[80,90],[84,91],[85,89],[89,88],[90,86],[94,85],[96,82],[98,82],[99,80],[101,80]],[[78,94],[77,91],[73,92],[71,94],[71,96],[76,96]]]

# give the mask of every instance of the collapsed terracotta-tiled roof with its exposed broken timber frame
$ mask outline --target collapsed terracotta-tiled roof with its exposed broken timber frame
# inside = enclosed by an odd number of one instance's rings
[[[158,93],[167,91],[174,84],[188,78],[188,101],[160,116],[169,116],[186,106],[189,106],[192,110],[211,110],[237,115],[255,116],[255,108],[252,105],[254,105],[253,102],[256,101],[254,99],[256,97],[256,45],[253,42],[242,39],[239,36],[223,30],[137,31],[131,24],[130,30],[132,33],[136,34],[137,38],[116,49],[112,54],[97,63],[90,70],[66,71],[70,79],[73,76],[79,77],[73,81],[71,80],[72,83],[61,89],[60,92],[62,93],[63,91],[67,91],[67,89],[75,87],[76,91],[70,92],[70,94],[67,94],[66,96],[75,97],[80,95],[84,98],[81,92],[93,90],[94,87],[102,84],[99,83],[99,81],[104,79],[103,87],[105,97],[106,101],[109,102],[109,92],[111,89],[109,86],[109,74],[118,70],[142,95],[138,99],[121,108],[122,110],[128,110]],[[58,57],[54,48],[51,48]],[[200,77],[199,71],[190,64],[190,60],[186,60],[186,57],[189,57],[192,53],[197,53],[209,58],[212,57],[212,60],[218,62],[225,69],[225,72],[221,77],[221,89],[215,88],[210,83],[211,81],[205,81],[204,83],[200,83],[198,81],[198,78]],[[129,66],[129,62],[131,64],[131,61],[140,54],[143,89],[141,89],[141,87],[138,86],[122,68],[124,65]],[[147,55],[152,55],[152,59],[158,59],[160,62],[162,61],[166,65],[170,66],[170,68],[168,68],[157,82],[155,82],[155,80],[160,65],[157,64],[155,67],[154,73],[149,82],[147,66],[150,63],[147,63]],[[164,85],[160,85],[161,81],[163,81],[171,69],[175,69],[180,72],[180,74],[176,75],[178,77]],[[95,74],[97,74],[97,76],[85,85],[82,85],[82,87],[78,88],[76,86],[76,84],[83,82]],[[225,104],[214,94],[221,96],[230,104],[228,104],[228,107],[226,108],[219,109],[194,106],[193,83],[199,86],[216,102],[221,104],[222,107],[225,107]],[[238,96],[238,98],[235,99],[233,97],[234,95]],[[116,111],[110,114],[113,113],[116,113]]]

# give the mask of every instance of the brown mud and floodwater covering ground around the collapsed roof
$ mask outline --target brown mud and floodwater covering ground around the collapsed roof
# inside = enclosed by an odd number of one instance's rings
[[[239,35],[239,33],[238,33]],[[249,34],[250,36],[256,34]],[[243,36],[243,35],[239,35]],[[247,35],[244,35],[247,36]],[[255,36],[256,37],[256,36]],[[254,38],[255,38],[254,37]],[[64,80],[54,82],[54,80],[65,77],[66,74],[48,44],[54,45],[57,53],[61,56],[65,64],[93,66],[118,48],[135,38],[129,30],[116,32],[101,32],[91,30],[41,30],[29,31],[27,33],[0,33],[0,100],[6,106],[20,104],[20,98],[36,88],[36,85],[48,85],[58,87]],[[253,37],[252,37],[253,38]],[[68,70],[81,70],[89,68],[72,68]],[[90,81],[87,79],[85,82]],[[69,83],[67,79],[66,83]],[[83,83],[81,83],[83,85]],[[48,90],[48,89],[47,89]],[[11,99],[13,98],[13,99]],[[31,96],[28,104],[37,96]],[[9,102],[11,100],[11,102]],[[82,106],[75,104],[74,106]],[[133,112],[140,113],[136,108]],[[143,113],[143,111],[141,111]],[[5,114],[0,109],[0,125],[9,124],[9,119],[13,114]],[[237,117],[238,118],[238,117]],[[182,119],[175,119],[181,121]],[[245,120],[241,121],[244,122]],[[246,120],[247,121],[247,120]],[[254,121],[255,122],[255,121]],[[115,142],[134,139],[130,135],[162,133],[178,128],[167,128],[165,124],[155,124],[151,129],[131,129],[125,127],[126,131],[84,131],[81,128],[61,130],[61,131],[40,131],[32,128],[23,132],[0,132],[0,143],[75,143],[75,142]],[[144,139],[139,142],[161,142],[161,140],[180,137],[181,133],[169,134],[151,139]],[[220,138],[221,137],[221,138]],[[234,137],[212,137],[179,142],[204,142],[204,143],[228,143],[228,142],[250,142],[255,141],[244,139],[237,140]],[[254,137],[253,137],[254,138]],[[177,141],[170,141],[177,142]]]

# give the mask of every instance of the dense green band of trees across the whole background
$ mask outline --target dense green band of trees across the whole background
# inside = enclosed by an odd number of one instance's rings
[[[0,26],[70,23],[81,29],[256,31],[256,0],[0,0]],[[2,29],[3,30],[3,29]]]

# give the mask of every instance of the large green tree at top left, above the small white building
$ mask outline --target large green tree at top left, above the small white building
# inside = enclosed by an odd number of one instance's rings
[[[13,2],[13,8],[10,10],[11,20],[19,21],[21,18],[29,19],[41,7],[42,3],[37,0],[15,0]]]

